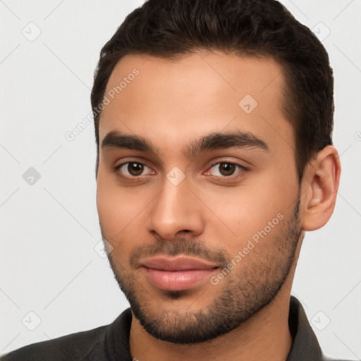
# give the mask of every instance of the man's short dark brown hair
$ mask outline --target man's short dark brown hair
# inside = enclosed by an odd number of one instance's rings
[[[312,31],[274,0],[149,0],[130,13],[100,52],[91,102],[99,162],[99,104],[116,63],[126,54],[168,59],[196,49],[270,56],[286,79],[282,109],[295,133],[299,181],[308,161],[332,144],[334,78]]]

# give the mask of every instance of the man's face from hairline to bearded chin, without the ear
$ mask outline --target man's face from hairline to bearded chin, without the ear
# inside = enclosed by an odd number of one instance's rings
[[[99,221],[116,279],[152,336],[214,338],[283,285],[301,226],[282,85],[271,59],[221,53],[128,55],[111,74]]]

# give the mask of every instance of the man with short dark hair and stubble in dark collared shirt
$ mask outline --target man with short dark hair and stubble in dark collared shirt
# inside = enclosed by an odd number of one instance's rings
[[[290,298],[341,171],[312,32],[273,0],[149,0],[102,49],[92,108],[130,308],[2,360],[327,360]]]

